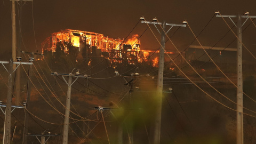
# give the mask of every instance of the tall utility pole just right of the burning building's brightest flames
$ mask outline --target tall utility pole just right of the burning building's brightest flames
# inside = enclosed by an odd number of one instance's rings
[[[149,23],[153,24],[155,27],[156,25],[161,25],[162,30],[159,31],[159,29],[156,27],[159,34],[161,34],[161,47],[160,47],[160,55],[159,55],[159,68],[158,68],[158,79],[157,79],[157,89],[156,89],[156,119],[155,119],[155,134],[154,134],[154,144],[160,143],[161,138],[161,117],[162,117],[162,98],[163,98],[163,73],[164,73],[164,52],[165,52],[165,35],[171,30],[173,26],[178,27],[186,27],[186,22],[183,22],[182,25],[180,24],[173,24],[173,23],[166,23],[165,21],[158,22],[156,18],[153,19],[152,22],[145,21],[144,17],[140,18],[141,23]],[[166,26],[171,26],[171,28],[167,31],[165,31]]]

